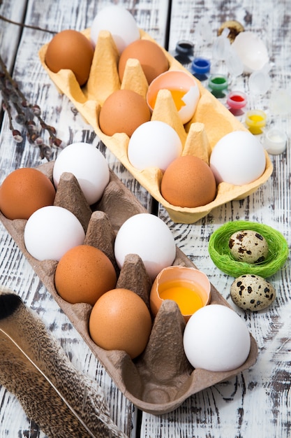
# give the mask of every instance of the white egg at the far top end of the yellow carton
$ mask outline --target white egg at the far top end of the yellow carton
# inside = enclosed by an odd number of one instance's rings
[[[96,44],[101,30],[110,31],[119,55],[126,46],[140,39],[140,30],[133,15],[121,6],[106,6],[96,15],[91,24],[91,41]]]

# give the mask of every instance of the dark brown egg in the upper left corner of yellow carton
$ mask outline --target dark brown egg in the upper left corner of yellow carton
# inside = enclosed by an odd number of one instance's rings
[[[82,86],[89,78],[93,55],[91,41],[81,32],[68,29],[55,35],[47,45],[45,64],[54,73],[61,69],[73,71]]]

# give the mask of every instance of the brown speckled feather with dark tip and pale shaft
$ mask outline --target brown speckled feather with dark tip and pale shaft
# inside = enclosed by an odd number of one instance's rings
[[[0,383],[52,438],[126,438],[98,383],[78,372],[20,297],[0,289]]]

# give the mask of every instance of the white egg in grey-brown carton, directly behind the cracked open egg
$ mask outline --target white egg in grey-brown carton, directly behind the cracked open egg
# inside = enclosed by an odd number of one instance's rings
[[[126,255],[137,254],[151,280],[176,257],[174,236],[165,222],[149,213],[131,216],[121,225],[114,243],[115,259],[119,268]]]

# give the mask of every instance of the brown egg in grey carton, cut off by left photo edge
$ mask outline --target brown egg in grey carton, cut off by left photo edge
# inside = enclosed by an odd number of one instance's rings
[[[54,204],[52,181],[37,169],[23,167],[6,176],[0,186],[0,210],[8,219],[28,219],[41,207]]]

